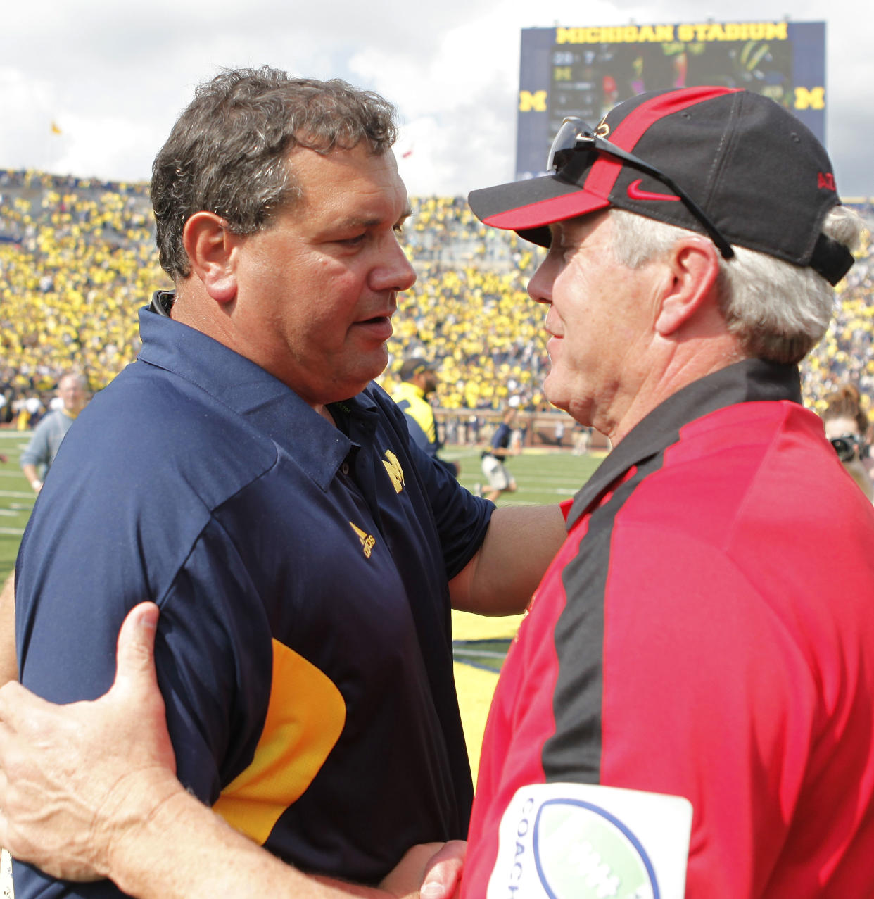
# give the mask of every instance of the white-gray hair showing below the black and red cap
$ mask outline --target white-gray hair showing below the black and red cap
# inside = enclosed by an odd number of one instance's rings
[[[666,254],[691,232],[623,209],[611,209],[614,256],[639,268]],[[835,206],[822,233],[853,250],[863,223],[851,209]],[[720,257],[719,305],[730,334],[750,358],[799,362],[820,341],[832,320],[834,289],[816,271],[775,256],[734,246],[735,258]]]

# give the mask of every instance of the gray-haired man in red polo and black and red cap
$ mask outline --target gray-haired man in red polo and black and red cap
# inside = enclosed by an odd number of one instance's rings
[[[570,120],[474,191],[549,247],[544,392],[613,443],[501,672],[462,897],[870,893],[874,515],[801,405],[858,222],[754,93]]]

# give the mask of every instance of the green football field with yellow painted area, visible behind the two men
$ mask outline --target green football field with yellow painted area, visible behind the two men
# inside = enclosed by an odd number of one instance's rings
[[[35,499],[18,464],[29,438],[30,432],[0,429],[0,454],[8,458],[7,462],[0,463],[0,576],[3,578],[13,569]],[[447,447],[443,455],[461,463],[459,480],[463,485],[472,488],[481,482],[479,449]],[[555,449],[525,450],[508,463],[518,489],[515,494],[505,494],[506,499],[502,496],[498,504],[561,503],[586,482],[603,456],[603,453],[573,456]],[[486,619],[453,613],[455,683],[474,777],[491,694],[519,620],[518,616]]]

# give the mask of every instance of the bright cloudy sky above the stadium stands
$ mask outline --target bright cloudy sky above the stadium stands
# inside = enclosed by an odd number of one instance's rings
[[[195,85],[267,63],[384,93],[411,194],[513,177],[522,28],[827,22],[827,142],[844,196],[874,195],[874,12],[867,0],[24,0],[4,3],[0,168],[149,177]],[[60,134],[52,133],[52,123]]]

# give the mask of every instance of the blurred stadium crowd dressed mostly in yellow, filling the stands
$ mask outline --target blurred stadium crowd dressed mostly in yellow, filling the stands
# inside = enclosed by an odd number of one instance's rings
[[[402,360],[438,370],[448,410],[546,407],[542,310],[525,293],[543,251],[487,229],[463,198],[411,198],[407,252],[419,273],[400,298],[384,375]],[[870,217],[870,206],[861,208]],[[154,248],[145,183],[107,183],[0,170],[0,422],[33,423],[60,373],[105,387],[137,354],[136,310],[169,287]],[[874,395],[874,267],[870,246],[838,288],[825,340],[802,367],[805,399],[850,381]]]

